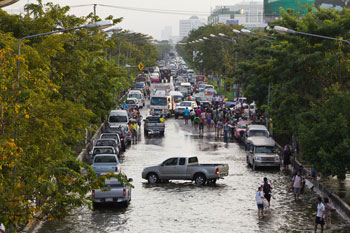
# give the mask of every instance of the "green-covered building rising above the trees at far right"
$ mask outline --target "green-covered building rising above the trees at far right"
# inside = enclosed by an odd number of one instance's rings
[[[264,22],[278,19],[280,9],[292,9],[294,13],[304,16],[309,9],[316,8],[342,8],[350,7],[350,0],[264,0]]]

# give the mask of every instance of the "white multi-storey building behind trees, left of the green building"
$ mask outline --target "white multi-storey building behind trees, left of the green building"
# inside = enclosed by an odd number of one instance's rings
[[[208,24],[239,24],[246,28],[266,27],[263,2],[247,2],[230,6],[216,6],[208,17]]]

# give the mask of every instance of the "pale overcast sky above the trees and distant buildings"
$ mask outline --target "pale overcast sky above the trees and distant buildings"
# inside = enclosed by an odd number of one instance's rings
[[[207,15],[209,15],[210,9],[214,8],[216,5],[234,5],[236,3],[250,1],[251,0],[43,0],[44,3],[53,2],[60,4],[61,6],[87,5],[96,3],[128,8],[146,8],[146,10],[171,10],[175,13],[180,13],[181,15],[167,13],[160,14],[97,6],[97,15],[101,18],[108,15],[113,15],[116,18],[124,17],[123,22],[120,24],[122,28],[149,34],[156,39],[161,39],[161,30],[164,29],[165,26],[172,26],[172,34],[178,35],[180,19],[187,19],[191,15],[198,15],[200,18],[207,19],[207,16],[204,16],[204,14],[207,13]],[[36,1],[20,0],[19,2],[3,9],[9,13],[19,13],[20,10],[23,11],[23,6],[28,2],[34,3]],[[191,12],[189,12],[188,15],[184,15],[183,12],[186,11]],[[70,13],[77,16],[86,16],[90,12],[93,12],[93,6],[72,7],[70,11]],[[194,13],[192,14],[192,12]],[[197,12],[201,15],[195,14]]]

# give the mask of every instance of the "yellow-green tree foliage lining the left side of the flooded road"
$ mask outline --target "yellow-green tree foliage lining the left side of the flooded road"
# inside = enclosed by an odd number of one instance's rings
[[[64,218],[91,204],[88,192],[103,186],[111,174],[96,177],[76,154],[85,130],[97,128],[100,117],[133,82],[116,66],[115,40],[97,29],[25,40],[18,57],[24,36],[93,20],[42,1],[26,10],[28,15],[0,10],[0,222],[16,231],[28,222]],[[128,43],[122,50],[128,46],[133,54],[129,64],[156,62],[153,45]],[[116,177],[127,183],[123,174]]]

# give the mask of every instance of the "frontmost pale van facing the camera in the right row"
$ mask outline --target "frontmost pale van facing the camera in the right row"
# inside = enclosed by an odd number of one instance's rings
[[[281,164],[276,151],[276,142],[268,137],[250,137],[247,140],[247,164],[255,170],[257,167],[276,167]]]

